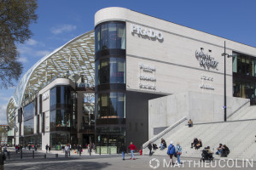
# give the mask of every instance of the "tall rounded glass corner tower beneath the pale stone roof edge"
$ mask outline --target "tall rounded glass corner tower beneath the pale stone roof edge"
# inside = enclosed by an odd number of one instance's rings
[[[117,153],[125,143],[125,22],[95,28],[96,152]]]

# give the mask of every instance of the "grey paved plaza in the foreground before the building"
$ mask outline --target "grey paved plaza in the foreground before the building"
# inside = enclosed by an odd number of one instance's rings
[[[125,154],[125,161],[121,155],[92,155],[84,153],[82,156],[72,154],[65,158],[61,151],[52,151],[44,158],[45,153],[36,152],[35,158],[32,158],[32,151],[24,151],[24,156],[20,160],[20,154],[12,153],[10,159],[5,163],[5,169],[109,169],[109,170],[131,170],[131,169],[255,169],[256,162],[236,161],[236,160],[219,160],[212,163],[201,164],[199,158],[183,158],[183,164],[174,167],[169,166],[168,156],[139,156],[136,160],[130,160],[130,154]],[[59,152],[58,158],[55,153]],[[219,157],[218,157],[219,158]],[[175,158],[174,161],[177,161]]]

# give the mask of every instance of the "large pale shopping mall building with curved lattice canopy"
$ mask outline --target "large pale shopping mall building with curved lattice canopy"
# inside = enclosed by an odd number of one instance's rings
[[[224,121],[224,75],[226,116],[256,104],[255,57],[256,48],[240,42],[103,8],[94,31],[22,77],[7,109],[13,142],[43,150],[95,143],[98,153],[116,153],[121,143],[140,148],[183,116]]]

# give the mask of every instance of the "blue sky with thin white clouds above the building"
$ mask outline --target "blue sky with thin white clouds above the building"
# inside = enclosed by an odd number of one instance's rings
[[[34,35],[18,44],[23,74],[55,48],[93,30],[94,14],[107,7],[130,8],[256,47],[255,0],[38,0],[38,22],[30,27]],[[0,124],[6,123],[6,106],[14,91],[15,87],[0,89]]]

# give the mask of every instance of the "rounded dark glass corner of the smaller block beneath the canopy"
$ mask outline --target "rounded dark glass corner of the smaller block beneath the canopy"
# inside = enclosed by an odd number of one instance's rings
[[[50,145],[60,150],[60,144],[77,144],[77,94],[69,86],[50,89]],[[72,137],[72,139],[71,139]]]

